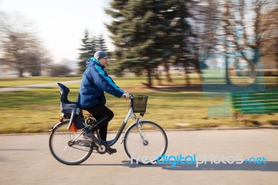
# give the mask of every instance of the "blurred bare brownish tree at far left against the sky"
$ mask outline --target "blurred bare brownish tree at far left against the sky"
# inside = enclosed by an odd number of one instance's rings
[[[40,75],[45,52],[33,31],[33,26],[19,17],[14,21],[6,16],[0,21],[2,61],[17,70],[19,77],[23,77],[24,72]]]

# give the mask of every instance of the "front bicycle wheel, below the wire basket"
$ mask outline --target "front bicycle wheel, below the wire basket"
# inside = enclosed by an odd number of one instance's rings
[[[167,136],[158,124],[141,121],[129,127],[124,136],[124,150],[131,159],[131,163],[156,163],[159,156],[167,150]]]

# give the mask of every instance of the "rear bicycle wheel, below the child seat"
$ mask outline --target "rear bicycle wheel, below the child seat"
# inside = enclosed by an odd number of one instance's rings
[[[52,130],[49,138],[51,154],[67,165],[83,163],[92,154],[92,143],[83,138],[82,131],[68,130],[67,124],[68,121],[60,122]]]

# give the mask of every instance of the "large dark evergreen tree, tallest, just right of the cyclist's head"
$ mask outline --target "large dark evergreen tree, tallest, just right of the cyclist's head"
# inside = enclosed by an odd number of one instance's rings
[[[152,87],[154,68],[171,56],[181,56],[189,29],[185,1],[115,0],[106,13],[114,18],[106,26],[113,33],[115,55],[125,67],[144,67]]]

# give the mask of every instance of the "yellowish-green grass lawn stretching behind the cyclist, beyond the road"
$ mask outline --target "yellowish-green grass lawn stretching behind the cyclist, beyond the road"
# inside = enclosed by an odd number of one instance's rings
[[[198,77],[192,74],[192,78],[194,86],[190,88],[182,87],[183,76],[174,76],[172,83],[166,83],[163,79],[163,86],[154,83],[153,89],[148,89],[142,84],[147,81],[145,77],[114,78],[114,81],[133,95],[148,95],[147,114],[144,118],[157,122],[164,129],[238,126],[238,122],[231,116],[213,117],[216,114],[211,112],[213,110],[222,111],[222,115],[231,113],[229,102],[223,97],[204,96]],[[81,79],[81,77],[0,79],[0,88],[76,79]],[[270,79],[270,81],[272,83],[275,80]],[[69,99],[72,102],[77,99],[79,85],[79,83],[67,85],[70,88]],[[108,129],[115,131],[124,120],[129,101],[111,95],[106,95],[106,99],[106,105],[115,114]],[[0,119],[2,120],[0,134],[48,132],[58,123],[60,117],[58,86],[0,93],[0,103]],[[215,106],[216,109],[213,109]],[[271,121],[277,121],[278,114],[247,115],[247,119],[250,120],[248,123],[250,126],[253,125],[252,120],[268,124]]]

